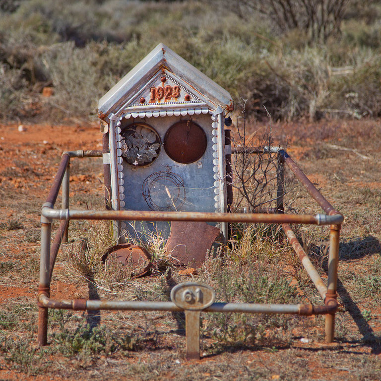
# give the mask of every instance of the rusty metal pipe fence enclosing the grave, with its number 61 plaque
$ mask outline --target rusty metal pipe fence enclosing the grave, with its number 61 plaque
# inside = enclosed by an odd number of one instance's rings
[[[250,313],[250,314],[297,314],[303,316],[325,315],[325,340],[334,338],[334,319],[337,311],[337,263],[339,249],[339,232],[343,216],[315,188],[307,176],[281,147],[265,147],[264,150],[253,149],[251,153],[277,153],[277,202],[275,214],[266,213],[203,213],[203,212],[157,212],[127,210],[72,210],[69,208],[69,167],[72,157],[101,157],[102,151],[68,151],[64,152],[57,175],[41,209],[41,255],[40,282],[38,287],[38,337],[40,346],[47,344],[48,309],[67,310],[130,310],[130,311],[184,311],[186,315],[186,357],[199,358],[199,322],[200,312]],[[235,152],[240,153],[240,152]],[[306,188],[326,214],[297,215],[284,214],[284,174],[285,164]],[[105,186],[110,189],[109,184]],[[54,209],[59,191],[62,187],[62,209]],[[110,198],[106,194],[106,205]],[[52,221],[61,220],[60,227],[51,245]],[[207,222],[245,222],[280,224],[295,253],[316,286],[324,304],[254,304],[254,303],[215,303],[215,293],[207,285],[182,283],[171,292],[171,302],[139,301],[98,301],[98,300],[54,300],[50,298],[50,283],[56,257],[62,242],[67,242],[67,231],[70,219],[81,220],[149,220],[149,221],[207,221]],[[328,254],[327,285],[308,255],[299,244],[290,224],[330,225],[330,246]]]

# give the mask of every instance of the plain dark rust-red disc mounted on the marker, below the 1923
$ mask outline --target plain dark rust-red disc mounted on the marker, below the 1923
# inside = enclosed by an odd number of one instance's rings
[[[164,149],[174,161],[189,164],[202,157],[206,150],[206,134],[192,121],[172,125],[164,137]]]

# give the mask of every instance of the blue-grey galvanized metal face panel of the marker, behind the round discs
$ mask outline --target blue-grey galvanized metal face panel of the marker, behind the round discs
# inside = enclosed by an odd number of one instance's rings
[[[185,117],[189,119],[190,117]],[[185,120],[183,118],[183,120]],[[162,117],[151,118],[145,121],[155,128],[162,141],[164,141],[167,130],[176,122],[180,120],[179,117]],[[144,120],[137,118],[135,123],[144,122]],[[133,166],[128,164],[125,160],[122,163],[123,166],[123,194],[124,201],[123,209],[130,210],[172,210],[172,211],[202,211],[202,212],[215,212],[215,180],[214,180],[214,164],[213,164],[213,133],[211,126],[210,115],[197,115],[192,117],[192,121],[197,123],[205,132],[207,137],[206,150],[203,156],[194,163],[181,164],[172,160],[165,152],[162,146],[161,151],[154,162],[151,165],[144,167]],[[151,123],[152,122],[152,123]],[[121,127],[128,125],[132,121],[124,120]],[[182,181],[184,189],[176,189],[176,184],[160,180],[156,184],[144,183],[153,173],[172,174],[175,179]],[[149,205],[148,200],[144,197],[144,186],[151,187],[152,203]],[[157,186],[156,186],[157,185]],[[156,186],[156,187],[155,187]],[[179,187],[181,188],[181,187]],[[174,196],[175,195],[175,196]],[[178,197],[178,199],[174,199]],[[166,202],[168,201],[168,202]],[[152,204],[159,207],[152,207]],[[170,233],[170,226],[167,222],[135,222],[133,226],[125,222],[122,223],[122,228],[125,228],[127,232],[135,236],[143,236],[143,233],[152,231],[159,231],[165,238]]]

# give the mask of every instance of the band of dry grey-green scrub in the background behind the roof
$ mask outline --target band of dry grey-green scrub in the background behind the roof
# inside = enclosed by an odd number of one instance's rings
[[[100,96],[158,42],[248,99],[252,115],[266,105],[274,119],[379,117],[381,4],[343,2],[341,33],[313,39],[243,7],[251,1],[3,0],[0,117],[95,117]]]

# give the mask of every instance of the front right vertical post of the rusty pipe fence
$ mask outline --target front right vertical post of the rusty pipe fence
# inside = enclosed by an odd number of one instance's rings
[[[329,300],[337,299],[337,264],[339,259],[339,238],[340,225],[331,225],[329,235],[329,255],[328,255],[328,284],[325,296],[325,304]],[[335,314],[325,315],[325,342],[331,343],[334,337]]]

